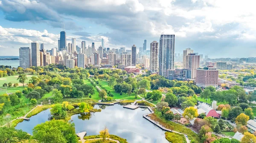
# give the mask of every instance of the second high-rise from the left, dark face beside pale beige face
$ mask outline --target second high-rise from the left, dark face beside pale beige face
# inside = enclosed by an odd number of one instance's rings
[[[40,66],[39,43],[31,43],[32,66]]]

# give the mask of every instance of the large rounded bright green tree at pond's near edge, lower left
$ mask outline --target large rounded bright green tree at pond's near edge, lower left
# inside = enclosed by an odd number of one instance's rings
[[[63,120],[50,120],[35,126],[33,139],[39,143],[78,143],[75,124]]]

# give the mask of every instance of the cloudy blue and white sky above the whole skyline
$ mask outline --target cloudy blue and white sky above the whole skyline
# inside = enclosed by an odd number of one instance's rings
[[[256,57],[255,0],[0,0],[0,56],[20,47],[58,46],[76,38],[96,47],[147,49],[161,34],[175,34],[175,53],[186,48],[219,57]]]

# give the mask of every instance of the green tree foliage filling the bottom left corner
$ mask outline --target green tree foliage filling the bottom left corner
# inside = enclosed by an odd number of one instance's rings
[[[28,140],[30,135],[22,130],[17,130],[13,127],[0,128],[0,143],[20,143]]]

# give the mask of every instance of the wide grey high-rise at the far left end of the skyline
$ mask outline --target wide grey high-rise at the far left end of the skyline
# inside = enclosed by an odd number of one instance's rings
[[[20,67],[23,69],[31,66],[31,54],[29,47],[20,47]]]

